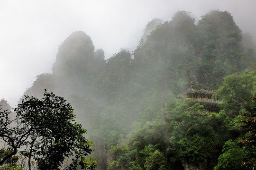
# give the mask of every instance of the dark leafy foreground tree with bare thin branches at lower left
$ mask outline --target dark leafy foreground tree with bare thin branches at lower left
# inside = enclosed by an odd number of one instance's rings
[[[75,122],[72,106],[63,97],[45,90],[43,99],[25,96],[14,111],[17,116],[13,120],[7,110],[0,112],[0,140],[11,150],[0,160],[0,165],[15,155],[19,148],[26,147],[21,153],[28,157],[29,169],[33,159],[39,170],[60,170],[68,158],[72,161],[65,169],[95,168],[96,162],[90,164],[85,159],[92,151],[92,142],[83,136],[87,130]]]

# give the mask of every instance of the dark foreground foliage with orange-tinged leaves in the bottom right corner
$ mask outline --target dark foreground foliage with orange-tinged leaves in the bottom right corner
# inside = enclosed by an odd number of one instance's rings
[[[254,97],[256,103],[256,97]],[[256,168],[256,107],[247,111],[240,120],[244,134],[237,140],[231,139],[223,146],[218,165],[214,170],[253,170]],[[238,118],[242,118],[238,116]]]

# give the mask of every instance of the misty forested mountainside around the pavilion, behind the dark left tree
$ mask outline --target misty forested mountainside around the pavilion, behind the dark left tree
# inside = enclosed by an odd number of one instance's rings
[[[153,19],[135,51],[110,59],[89,35],[72,33],[53,73],[37,76],[24,94],[40,98],[47,89],[71,103],[98,170],[249,169],[256,164],[247,130],[255,130],[255,50],[229,12],[196,22],[178,11],[171,21]],[[207,110],[184,100],[191,86],[216,92],[218,111],[194,114]]]

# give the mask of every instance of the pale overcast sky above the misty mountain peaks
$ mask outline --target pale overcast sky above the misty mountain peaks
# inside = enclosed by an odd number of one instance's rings
[[[58,46],[74,31],[91,36],[106,58],[134,51],[146,24],[179,10],[197,20],[229,11],[256,39],[256,0],[0,0],[0,99],[12,107],[42,73],[51,73]]]

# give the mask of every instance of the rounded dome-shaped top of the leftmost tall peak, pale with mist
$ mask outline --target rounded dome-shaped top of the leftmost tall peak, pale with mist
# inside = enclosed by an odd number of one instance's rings
[[[94,65],[94,45],[91,38],[78,31],[61,44],[52,70],[55,76],[81,76],[89,74]]]

